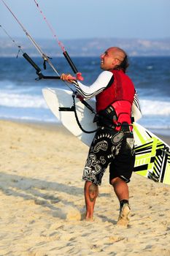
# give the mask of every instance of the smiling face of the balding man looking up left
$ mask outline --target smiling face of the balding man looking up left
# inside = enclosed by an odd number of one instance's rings
[[[101,54],[101,69],[110,70],[115,67],[115,58],[111,48]]]

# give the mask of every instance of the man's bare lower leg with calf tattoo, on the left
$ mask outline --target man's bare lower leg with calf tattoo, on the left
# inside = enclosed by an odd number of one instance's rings
[[[85,181],[85,206],[86,219],[93,219],[93,210],[98,196],[98,186],[90,181]]]

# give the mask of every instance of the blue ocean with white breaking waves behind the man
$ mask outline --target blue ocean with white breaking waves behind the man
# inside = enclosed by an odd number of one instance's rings
[[[42,58],[32,58],[44,75],[55,75]],[[101,72],[100,58],[72,57],[82,72],[83,83],[90,85]],[[51,60],[58,72],[72,70],[63,57]],[[142,108],[142,124],[152,132],[169,135],[170,129],[170,57],[130,57],[128,75],[134,82]],[[0,118],[20,121],[58,123],[42,96],[45,87],[66,88],[61,80],[35,80],[35,69],[22,56],[0,58]]]

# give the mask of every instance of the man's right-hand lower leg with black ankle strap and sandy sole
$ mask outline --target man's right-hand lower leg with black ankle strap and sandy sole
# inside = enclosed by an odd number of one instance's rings
[[[118,218],[118,225],[127,226],[129,222],[129,215],[131,208],[128,203],[128,184],[121,178],[113,178],[110,182],[115,190],[118,200],[120,201],[120,214]]]

